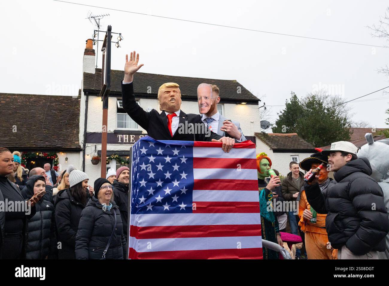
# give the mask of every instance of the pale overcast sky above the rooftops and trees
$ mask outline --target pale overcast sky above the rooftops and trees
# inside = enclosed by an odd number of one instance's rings
[[[73,2],[305,37],[389,44],[371,37],[366,28],[378,23],[387,1]],[[0,92],[76,95],[85,40],[94,30],[85,19],[88,11],[110,14],[102,20],[102,29],[112,25],[112,31],[124,37],[121,48],[112,45],[112,69],[123,70],[125,54],[135,49],[144,63],[142,72],[236,79],[254,95],[265,95],[262,102],[268,106],[285,104],[291,91],[303,97],[325,85],[330,93],[348,100],[389,86],[384,75],[377,73],[389,64],[387,48],[237,30],[53,0],[7,1],[2,8]],[[389,95],[377,92],[363,98],[367,99],[349,104],[352,119],[387,127],[384,112]],[[272,107],[272,123],[282,108]]]

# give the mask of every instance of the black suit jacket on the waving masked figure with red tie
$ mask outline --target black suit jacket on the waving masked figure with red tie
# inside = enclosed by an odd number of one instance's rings
[[[221,138],[220,135],[217,135],[214,132],[210,132],[209,137],[206,137],[205,133],[180,134],[180,125],[172,137],[168,129],[168,119],[165,111],[162,111],[161,113],[158,113],[155,109],[152,109],[150,112],[144,111],[135,101],[132,82],[129,84],[122,83],[122,100],[124,110],[133,119],[133,121],[142,126],[142,128],[147,131],[147,134],[156,140],[211,141],[212,139],[218,140]],[[179,124],[184,124],[184,126],[189,126],[192,123],[199,123],[204,125],[203,130],[207,129],[207,126],[205,126],[201,120],[200,114],[186,114],[185,112],[180,111],[179,118]],[[187,121],[187,123],[185,123],[185,121]]]

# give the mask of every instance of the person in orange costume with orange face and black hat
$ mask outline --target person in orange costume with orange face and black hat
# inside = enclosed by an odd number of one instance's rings
[[[319,148],[316,148],[316,150],[319,153],[312,154],[310,157],[301,161],[300,168],[308,172],[310,169],[314,170],[319,167],[321,163],[325,163],[326,166],[318,174],[319,187],[323,191],[332,179],[328,178],[328,157],[322,155]],[[300,221],[298,225],[301,231],[305,233],[305,249],[308,259],[336,259],[338,251],[332,249],[331,244],[328,242],[326,232],[327,215],[318,214],[312,209],[305,195],[305,190],[300,191],[299,197],[298,216],[300,217]]]

